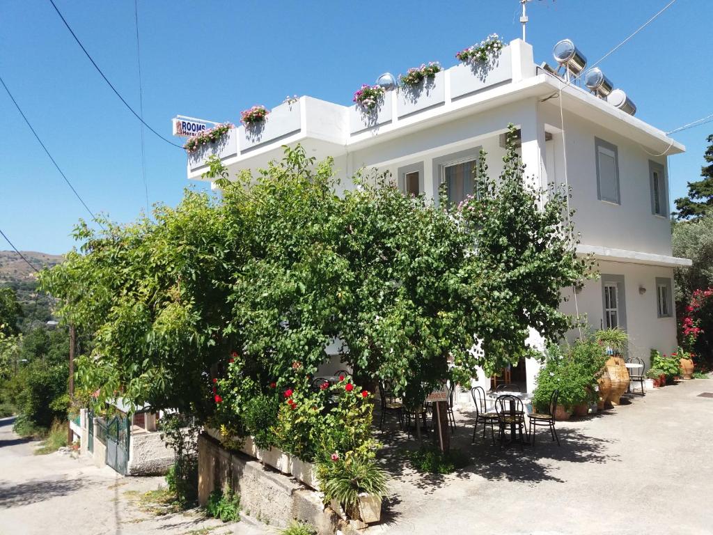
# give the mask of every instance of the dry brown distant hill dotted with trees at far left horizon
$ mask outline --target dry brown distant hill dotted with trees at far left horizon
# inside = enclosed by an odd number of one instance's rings
[[[62,263],[61,255],[48,255],[35,251],[21,251],[29,263],[38,270]],[[53,319],[52,311],[56,300],[51,295],[37,291],[37,277],[34,270],[15,251],[0,251],[0,286],[9,286],[22,305],[24,319],[21,328],[36,326],[37,322]]]

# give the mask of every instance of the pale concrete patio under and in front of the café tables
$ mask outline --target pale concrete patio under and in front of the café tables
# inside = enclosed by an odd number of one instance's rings
[[[470,464],[443,476],[411,468],[406,449],[419,442],[392,418],[379,434],[392,478],[385,521],[366,533],[709,533],[713,399],[703,392],[713,392],[713,379],[654,389],[557,422],[562,447],[538,432],[538,443],[523,452],[493,445],[489,433],[471,444],[474,414],[456,410],[451,446]]]

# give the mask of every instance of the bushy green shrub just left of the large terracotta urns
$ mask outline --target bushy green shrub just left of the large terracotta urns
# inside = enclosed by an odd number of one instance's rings
[[[550,397],[559,391],[558,403],[565,409],[597,400],[597,378],[607,361],[604,345],[594,337],[577,340],[574,345],[550,345],[545,365],[537,378],[533,405],[538,410],[549,409]]]

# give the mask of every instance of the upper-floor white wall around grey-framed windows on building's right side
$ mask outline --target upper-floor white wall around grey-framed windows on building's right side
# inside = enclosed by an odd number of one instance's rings
[[[553,99],[556,101],[557,99]],[[541,105],[540,117],[559,127],[560,109],[553,103]],[[581,242],[607,248],[641,253],[671,255],[670,220],[651,213],[649,161],[666,168],[665,157],[650,156],[638,143],[629,141],[626,132],[609,131],[596,123],[564,112],[567,142],[568,183],[572,187],[574,222],[582,234]],[[595,137],[617,147],[620,176],[620,205],[597,198]],[[562,139],[553,139],[554,151],[548,153],[550,180],[565,182]],[[553,160],[550,163],[550,158]],[[667,188],[668,190],[668,188]],[[668,206],[668,200],[665,200]]]

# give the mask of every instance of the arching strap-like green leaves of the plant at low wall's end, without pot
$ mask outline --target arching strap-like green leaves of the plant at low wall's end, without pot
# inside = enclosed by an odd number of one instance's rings
[[[381,497],[386,493],[386,474],[371,459],[340,457],[319,462],[317,477],[324,499],[339,502],[352,518],[356,518],[354,508],[359,494]]]

